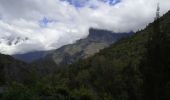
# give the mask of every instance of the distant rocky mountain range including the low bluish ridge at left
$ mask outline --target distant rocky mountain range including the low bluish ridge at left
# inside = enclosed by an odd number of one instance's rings
[[[113,33],[107,30],[89,29],[88,37],[78,40],[73,44],[65,45],[51,51],[35,51],[25,54],[13,55],[14,58],[24,62],[44,61],[46,59],[55,61],[56,64],[67,65],[78,59],[84,59],[94,55],[101,49],[108,47],[117,40],[130,36],[130,33]]]

